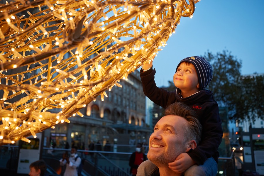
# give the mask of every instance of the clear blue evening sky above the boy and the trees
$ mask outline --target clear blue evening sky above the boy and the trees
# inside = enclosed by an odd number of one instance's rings
[[[193,18],[182,17],[176,33],[153,61],[158,86],[172,81],[185,57],[223,50],[242,60],[243,75],[264,73],[264,0],[201,0]]]

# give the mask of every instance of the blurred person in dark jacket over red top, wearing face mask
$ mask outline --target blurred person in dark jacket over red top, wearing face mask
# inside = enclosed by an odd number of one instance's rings
[[[138,166],[145,160],[147,160],[147,156],[142,151],[143,147],[141,143],[138,143],[136,146],[136,151],[132,153],[132,155],[129,158],[129,166],[130,173],[132,173],[132,176],[137,175],[137,169]]]

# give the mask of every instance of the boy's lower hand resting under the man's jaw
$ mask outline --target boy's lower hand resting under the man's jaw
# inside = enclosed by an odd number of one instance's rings
[[[187,153],[181,153],[172,163],[169,163],[169,168],[174,172],[182,173],[194,164],[195,161]]]

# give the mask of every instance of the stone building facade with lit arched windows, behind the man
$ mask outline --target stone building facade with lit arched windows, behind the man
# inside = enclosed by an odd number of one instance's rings
[[[70,123],[45,130],[47,147],[52,144],[64,148],[68,143],[88,149],[89,143],[98,141],[102,149],[107,141],[119,145],[136,145],[138,142],[148,145],[152,129],[145,121],[146,98],[140,73],[136,70],[119,83],[122,88],[114,86],[107,91],[104,101],[98,96],[96,101],[80,110],[81,114],[70,117]]]

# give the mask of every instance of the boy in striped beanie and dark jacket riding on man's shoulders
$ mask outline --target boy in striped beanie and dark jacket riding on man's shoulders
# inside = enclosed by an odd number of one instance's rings
[[[174,172],[185,172],[185,176],[217,174],[219,157],[217,149],[222,140],[223,130],[213,92],[204,89],[212,80],[212,72],[211,65],[203,57],[186,57],[180,61],[173,76],[176,90],[168,92],[156,86],[152,62],[142,65],[140,77],[143,91],[151,101],[164,109],[174,102],[182,102],[194,109],[202,124],[202,141],[197,148],[180,154],[174,162],[169,163]],[[141,173],[148,173],[153,167],[155,165],[147,160],[138,170],[141,170]]]

